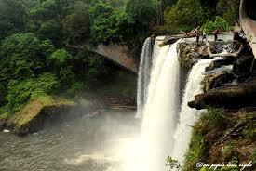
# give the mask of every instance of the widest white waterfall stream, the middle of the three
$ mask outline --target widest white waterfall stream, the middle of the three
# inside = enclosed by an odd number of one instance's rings
[[[156,46],[158,43],[156,41]],[[180,109],[180,64],[177,43],[155,47],[142,121],[142,170],[163,171],[172,149]]]

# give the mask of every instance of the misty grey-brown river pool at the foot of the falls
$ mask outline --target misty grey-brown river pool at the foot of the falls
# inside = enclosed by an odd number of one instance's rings
[[[140,133],[132,112],[84,116],[24,138],[0,133],[0,171],[124,171]],[[135,158],[134,158],[135,160]]]

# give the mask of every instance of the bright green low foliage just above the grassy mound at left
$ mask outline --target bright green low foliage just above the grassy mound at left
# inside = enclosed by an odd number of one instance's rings
[[[7,109],[18,112],[30,99],[51,93],[57,86],[56,76],[50,73],[23,81],[11,80],[7,85]]]

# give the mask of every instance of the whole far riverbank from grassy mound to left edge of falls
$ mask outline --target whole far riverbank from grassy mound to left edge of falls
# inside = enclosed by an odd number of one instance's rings
[[[105,85],[87,89],[74,86],[58,95],[40,96],[30,100],[15,113],[0,115],[0,131],[7,129],[24,136],[88,113],[103,110],[136,110],[136,77],[119,70]]]

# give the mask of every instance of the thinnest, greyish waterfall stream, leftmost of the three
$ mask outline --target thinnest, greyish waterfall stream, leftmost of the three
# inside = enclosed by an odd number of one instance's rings
[[[137,85],[137,115],[136,117],[141,118],[144,103],[147,99],[147,87],[150,79],[150,70],[152,63],[152,46],[151,37],[147,38],[144,42],[141,52],[141,61],[138,75]]]

